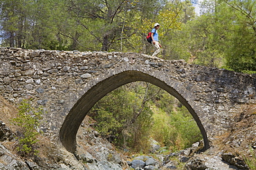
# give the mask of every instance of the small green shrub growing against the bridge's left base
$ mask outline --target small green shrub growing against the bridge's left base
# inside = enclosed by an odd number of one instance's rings
[[[12,123],[19,126],[17,150],[21,156],[33,156],[38,151],[35,144],[38,141],[37,127],[42,119],[42,108],[35,108],[31,105],[31,100],[23,100],[19,105],[19,113],[16,118],[12,118]]]

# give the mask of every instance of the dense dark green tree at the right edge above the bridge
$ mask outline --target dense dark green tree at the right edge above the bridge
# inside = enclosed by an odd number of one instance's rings
[[[225,0],[223,3],[228,6],[226,13],[232,21],[226,66],[237,72],[256,71],[256,2]]]

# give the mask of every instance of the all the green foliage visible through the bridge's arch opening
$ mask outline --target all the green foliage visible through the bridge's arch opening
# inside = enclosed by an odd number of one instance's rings
[[[149,83],[131,83],[114,90],[96,103],[89,116],[96,120],[95,129],[104,138],[132,151],[147,153],[150,138],[174,151],[202,138],[188,110]]]

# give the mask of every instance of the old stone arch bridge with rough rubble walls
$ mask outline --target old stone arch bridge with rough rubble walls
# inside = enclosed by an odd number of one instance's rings
[[[234,114],[256,104],[256,76],[165,61],[145,54],[23,50],[1,47],[0,92],[12,103],[34,98],[46,113],[40,127],[75,153],[77,130],[93,105],[113,89],[152,83],[187,107],[203,136],[224,133]]]

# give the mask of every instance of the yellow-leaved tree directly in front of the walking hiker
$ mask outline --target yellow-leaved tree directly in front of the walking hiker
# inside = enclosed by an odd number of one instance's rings
[[[161,23],[160,37],[163,45],[164,59],[187,59],[187,50],[182,47],[185,39],[182,28],[185,23],[194,19],[194,8],[190,1],[172,1],[158,15]],[[184,53],[185,52],[185,53]]]

